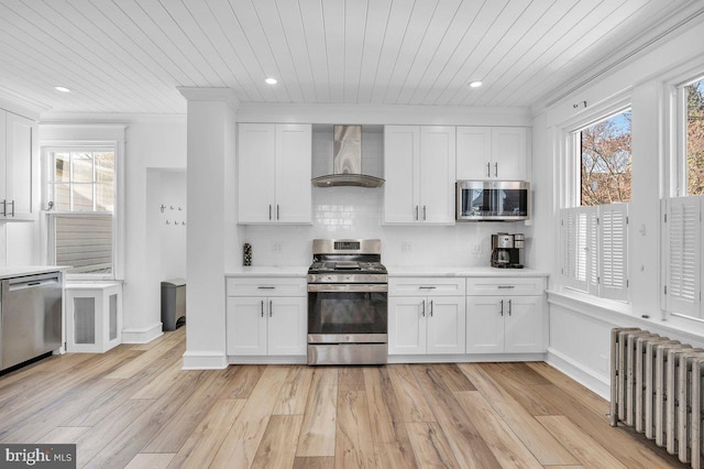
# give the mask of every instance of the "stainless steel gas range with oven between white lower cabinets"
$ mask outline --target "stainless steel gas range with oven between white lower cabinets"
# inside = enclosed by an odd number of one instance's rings
[[[388,275],[378,239],[316,239],[308,269],[308,364],[386,363]]]

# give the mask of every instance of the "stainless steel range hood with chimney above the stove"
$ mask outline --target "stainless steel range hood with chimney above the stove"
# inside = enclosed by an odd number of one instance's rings
[[[362,174],[362,126],[334,126],[332,174],[312,179],[316,187],[380,187],[384,179]]]

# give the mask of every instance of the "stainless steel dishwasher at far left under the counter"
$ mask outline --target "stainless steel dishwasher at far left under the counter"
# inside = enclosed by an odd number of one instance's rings
[[[0,282],[0,370],[62,346],[62,273]]]

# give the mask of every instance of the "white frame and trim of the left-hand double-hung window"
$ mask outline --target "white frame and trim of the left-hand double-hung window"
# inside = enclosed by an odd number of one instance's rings
[[[41,142],[41,167],[42,167],[42,214],[43,227],[42,237],[44,239],[43,257],[47,264],[55,263],[55,238],[52,234],[55,229],[56,216],[75,216],[75,217],[94,217],[105,216],[109,211],[65,211],[48,209],[48,186],[50,174],[53,172],[48,153],[53,151],[76,151],[80,149],[95,151],[96,149],[110,148],[114,151],[114,181],[113,181],[113,201],[114,207],[112,216],[112,271],[110,273],[66,273],[67,281],[119,281],[124,279],[124,225],[123,225],[123,206],[124,206],[124,174],[123,174],[123,140],[63,140],[63,141],[42,141]]]

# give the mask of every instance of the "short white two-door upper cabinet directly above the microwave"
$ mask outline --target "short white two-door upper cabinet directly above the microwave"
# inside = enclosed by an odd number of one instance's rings
[[[458,179],[526,179],[525,127],[458,127]]]

